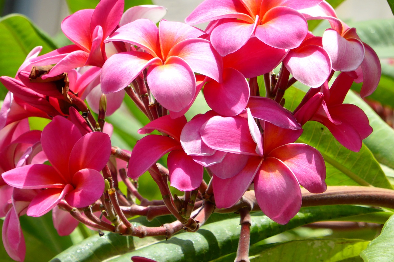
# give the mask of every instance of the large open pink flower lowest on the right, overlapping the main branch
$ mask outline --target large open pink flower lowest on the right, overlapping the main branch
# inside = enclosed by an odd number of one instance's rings
[[[325,163],[316,149],[293,143],[301,135],[301,129],[260,123],[263,135],[248,111],[247,119],[214,116],[201,127],[201,137],[207,146],[233,153],[234,162],[238,162],[238,154],[245,163],[235,172],[223,172],[225,165],[210,167],[214,173],[215,203],[218,208],[231,207],[253,182],[257,203],[264,214],[286,224],[301,207],[299,185],[312,193],[325,191]]]

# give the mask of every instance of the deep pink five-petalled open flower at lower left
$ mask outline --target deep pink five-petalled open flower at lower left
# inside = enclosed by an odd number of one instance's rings
[[[111,154],[108,135],[93,132],[82,136],[69,120],[56,116],[42,131],[41,146],[52,166],[29,164],[2,174],[16,188],[45,188],[30,203],[28,216],[42,216],[63,198],[77,208],[99,199],[104,190],[100,171]]]

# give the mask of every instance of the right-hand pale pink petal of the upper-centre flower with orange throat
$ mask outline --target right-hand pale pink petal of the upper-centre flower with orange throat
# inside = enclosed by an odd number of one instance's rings
[[[222,59],[206,39],[186,39],[176,44],[168,56],[182,58],[193,72],[221,81]]]

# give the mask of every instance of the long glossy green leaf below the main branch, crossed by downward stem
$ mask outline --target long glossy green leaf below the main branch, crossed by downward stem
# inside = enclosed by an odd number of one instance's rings
[[[251,244],[316,221],[342,219],[347,216],[371,214],[379,210],[357,206],[324,206],[301,208],[287,225],[279,225],[261,212],[251,214]],[[228,217],[226,214],[225,218]],[[138,218],[141,221],[143,218]],[[136,223],[136,222],[135,222]],[[162,221],[159,221],[162,223]],[[157,225],[154,223],[150,226]],[[210,261],[237,249],[240,234],[239,218],[226,218],[203,225],[195,233],[182,232],[169,240],[139,239],[107,233],[93,236],[53,258],[52,262],[130,261],[131,256],[144,256],[156,261]],[[125,253],[127,252],[127,253]],[[76,256],[76,254],[78,254]],[[122,255],[123,254],[123,255]]]

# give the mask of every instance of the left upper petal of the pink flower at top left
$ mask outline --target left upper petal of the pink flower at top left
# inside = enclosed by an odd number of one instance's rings
[[[61,22],[61,30],[74,44],[84,49],[90,50],[90,20],[93,9],[82,9],[64,18]]]

